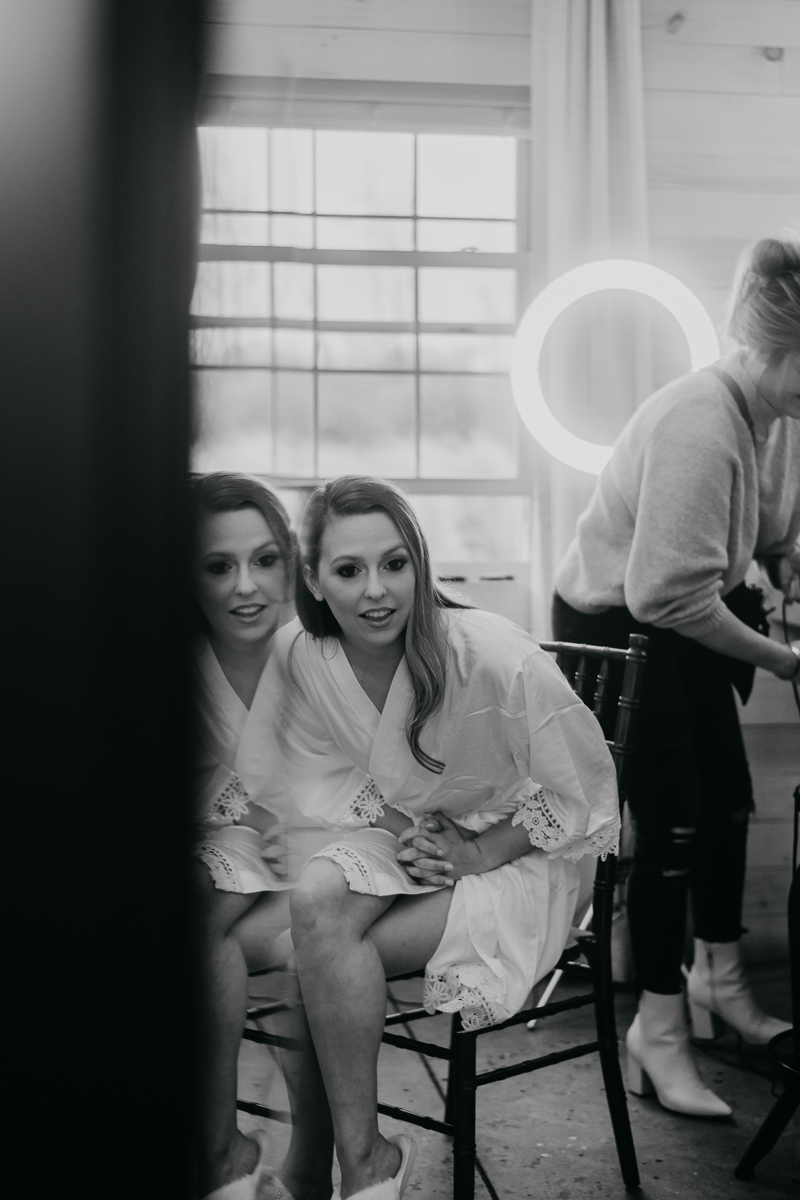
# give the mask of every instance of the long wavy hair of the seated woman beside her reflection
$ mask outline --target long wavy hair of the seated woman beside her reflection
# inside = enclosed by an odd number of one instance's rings
[[[405,542],[414,565],[416,583],[411,612],[405,628],[405,665],[414,689],[414,708],[405,722],[405,737],[416,761],[427,770],[440,774],[445,764],[420,745],[427,719],[440,707],[445,694],[447,646],[439,619],[441,608],[468,608],[449,596],[437,584],[431,569],[431,553],[416,512],[392,484],[368,475],[344,475],[318,487],[303,512],[300,533],[301,557],[297,563],[295,604],[303,628],[315,638],[338,637],[339,624],[326,600],[317,600],[309,590],[303,569],[313,577],[319,571],[323,534],[331,520],[385,512]]]

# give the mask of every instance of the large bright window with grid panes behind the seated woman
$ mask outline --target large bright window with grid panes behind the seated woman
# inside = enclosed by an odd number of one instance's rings
[[[205,127],[200,152],[194,469],[383,475],[457,516],[439,557],[527,558],[516,139]]]

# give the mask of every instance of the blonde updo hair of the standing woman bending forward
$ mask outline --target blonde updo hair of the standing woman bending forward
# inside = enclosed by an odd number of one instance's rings
[[[727,335],[770,365],[800,353],[800,238],[762,238],[744,251]]]

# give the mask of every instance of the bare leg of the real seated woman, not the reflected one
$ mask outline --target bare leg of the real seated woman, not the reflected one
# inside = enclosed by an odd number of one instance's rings
[[[291,894],[291,936],[331,1106],[342,1200],[390,1178],[399,1166],[397,1147],[378,1130],[386,971],[428,961],[441,941],[451,896],[446,888],[397,901],[390,919],[396,898],[350,892],[341,868],[327,858],[312,859]]]

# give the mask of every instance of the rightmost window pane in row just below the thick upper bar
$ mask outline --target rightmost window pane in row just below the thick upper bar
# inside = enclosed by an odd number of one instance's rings
[[[420,320],[511,325],[517,275],[511,270],[420,268]]]

